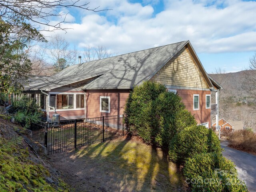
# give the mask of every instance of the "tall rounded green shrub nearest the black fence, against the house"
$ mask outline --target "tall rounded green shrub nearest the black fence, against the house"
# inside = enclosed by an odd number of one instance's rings
[[[146,142],[152,142],[156,134],[153,101],[160,93],[166,92],[166,87],[163,84],[146,81],[140,86],[135,86],[130,92],[124,114],[126,115],[126,125],[130,128],[132,134],[138,134]]]

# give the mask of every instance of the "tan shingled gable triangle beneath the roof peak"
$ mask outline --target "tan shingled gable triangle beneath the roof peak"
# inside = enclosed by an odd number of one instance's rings
[[[172,57],[151,80],[170,86],[209,89],[206,80],[186,47]]]

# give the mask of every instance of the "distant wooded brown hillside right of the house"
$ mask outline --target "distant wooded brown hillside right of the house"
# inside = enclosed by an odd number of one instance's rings
[[[223,89],[220,90],[220,118],[226,120],[243,121],[243,126],[256,131],[256,97],[251,88],[256,85],[252,81],[256,70],[244,70],[234,73],[225,73],[217,69],[215,74],[210,74]],[[250,77],[250,78],[248,78]],[[250,88],[250,90],[249,90]],[[215,99],[212,99],[215,103]]]

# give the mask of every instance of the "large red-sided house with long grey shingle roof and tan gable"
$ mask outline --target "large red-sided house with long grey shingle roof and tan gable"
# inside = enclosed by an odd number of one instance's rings
[[[24,93],[38,98],[50,118],[54,110],[61,120],[122,115],[130,91],[146,80],[178,92],[198,124],[211,124],[211,92],[218,99],[222,87],[205,72],[189,41],[79,62],[54,76],[31,78]]]

